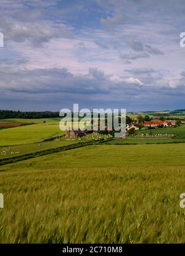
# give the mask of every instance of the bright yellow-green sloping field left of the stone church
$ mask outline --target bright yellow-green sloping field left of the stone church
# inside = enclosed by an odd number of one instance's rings
[[[0,130],[0,146],[20,145],[63,135],[59,124],[33,124]]]

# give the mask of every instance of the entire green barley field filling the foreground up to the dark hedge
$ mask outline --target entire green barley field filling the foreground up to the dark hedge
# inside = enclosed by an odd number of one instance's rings
[[[0,242],[185,242],[182,144],[97,145],[0,168]]]

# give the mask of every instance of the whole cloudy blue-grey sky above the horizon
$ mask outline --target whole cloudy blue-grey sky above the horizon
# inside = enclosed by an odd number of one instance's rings
[[[1,0],[0,109],[185,108],[184,0]]]

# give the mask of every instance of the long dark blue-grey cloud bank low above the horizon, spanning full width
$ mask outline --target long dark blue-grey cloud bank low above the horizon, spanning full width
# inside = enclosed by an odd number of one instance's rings
[[[46,107],[46,100],[52,103],[55,108],[80,102],[86,106],[105,106],[112,102],[115,107],[118,101],[121,104],[136,103],[142,99],[142,103],[152,100],[152,104],[164,99],[160,95],[165,95],[165,99],[170,100],[175,95],[178,96],[179,89],[181,95],[185,95],[183,81],[176,83],[174,87],[168,85],[159,78],[147,78],[143,86],[135,83],[130,77],[116,77],[110,79],[110,75],[105,75],[102,70],[91,68],[86,75],[76,75],[67,69],[34,69],[34,70],[14,70],[2,68],[0,70],[0,100],[1,98],[11,99],[18,103],[18,98],[26,98],[27,101],[40,102]],[[133,81],[133,82],[132,82]],[[142,79],[144,82],[144,79]],[[8,101],[7,99],[7,101]],[[0,101],[0,105],[2,101]],[[54,104],[55,103],[55,104]],[[20,103],[21,104],[21,103]],[[19,105],[20,106],[20,105]],[[110,106],[110,105],[109,105]],[[143,105],[142,105],[143,106]],[[148,105],[146,105],[148,106]]]

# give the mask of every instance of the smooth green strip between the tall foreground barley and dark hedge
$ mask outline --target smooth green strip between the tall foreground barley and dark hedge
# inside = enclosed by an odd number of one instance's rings
[[[185,166],[184,143],[162,145],[93,145],[21,161],[2,169]],[[17,167],[16,167],[17,166]],[[1,171],[1,167],[0,167]]]

